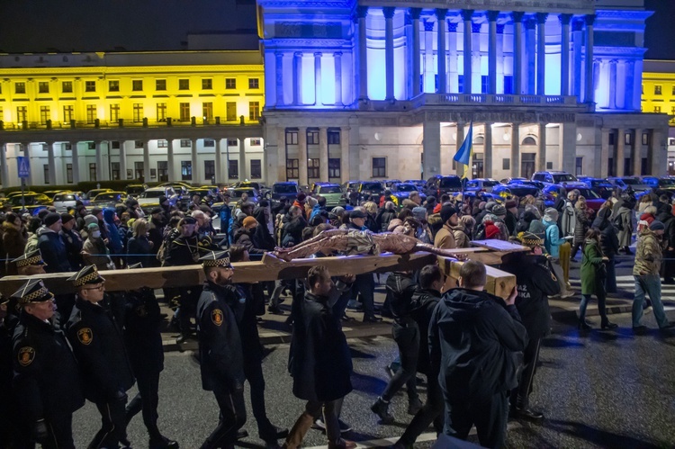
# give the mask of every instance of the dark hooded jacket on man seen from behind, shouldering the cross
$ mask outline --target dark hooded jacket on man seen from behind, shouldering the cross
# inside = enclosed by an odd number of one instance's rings
[[[432,373],[448,396],[487,399],[518,385],[527,330],[515,305],[486,292],[446,292],[429,323]]]

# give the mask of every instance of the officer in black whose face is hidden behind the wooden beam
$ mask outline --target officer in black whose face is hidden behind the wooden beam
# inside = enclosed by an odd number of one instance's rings
[[[139,264],[129,268],[141,268]],[[159,327],[162,317],[155,293],[148,287],[127,292],[124,309],[124,343],[139,392],[126,409],[129,424],[142,410],[143,424],[148,428],[150,449],[178,449],[178,443],[163,436],[157,427],[159,373],[164,370],[164,347]]]

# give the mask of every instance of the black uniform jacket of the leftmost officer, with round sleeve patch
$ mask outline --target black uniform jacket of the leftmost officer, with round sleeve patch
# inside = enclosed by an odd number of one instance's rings
[[[85,405],[75,356],[63,332],[22,313],[14,329],[13,355],[14,394],[27,422]]]

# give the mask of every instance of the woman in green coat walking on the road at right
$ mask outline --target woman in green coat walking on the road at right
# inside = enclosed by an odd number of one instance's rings
[[[598,298],[598,311],[601,319],[600,328],[603,330],[617,328],[617,324],[609,322],[605,308],[605,276],[607,275],[605,263],[609,259],[602,254],[598,229],[589,229],[586,233],[586,241],[584,242],[582,251],[579,328],[580,330],[590,330],[591,328],[590,324],[586,321],[586,308],[589,305],[590,296],[593,294]]]

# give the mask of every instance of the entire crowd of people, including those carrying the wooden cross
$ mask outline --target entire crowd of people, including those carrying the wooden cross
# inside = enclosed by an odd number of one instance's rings
[[[389,405],[407,387],[408,411],[414,418],[393,447],[412,446],[432,423],[439,434],[460,439],[475,425],[482,445],[502,446],[509,416],[543,418],[528,397],[541,340],[550,330],[548,298],[576,294],[569,270],[581,250],[579,328],[591,328],[585,316],[593,296],[600,327],[617,328],[608,320],[606,296],[617,292],[616,257],[631,253],[634,229],[633,329],[645,328],[646,296],[659,328],[671,328],[661,302],[662,275],[666,283],[675,276],[675,260],[669,257],[675,252],[675,216],[668,197],[648,194],[635,202],[629,193],[616,195],[597,213],[575,191],[560,195],[553,207],[531,196],[503,204],[461,194],[423,202],[415,192],[401,208],[389,192],[363,198],[350,210],[329,210],[325,198],[304,193],[274,207],[244,196],[230,208],[227,192],[222,200],[217,208],[195,197],[184,212],[160,198],[148,216],[134,200],[115,208],[77,205],[63,214],[40,211],[36,217],[4,214],[3,274],[31,278],[0,307],[2,388],[14,393],[2,401],[0,440],[13,442],[8,447],[73,447],[72,413],[86,398],[102,416],[101,430],[89,447],[129,445],[125,428],[141,410],[149,447],[178,447],[157,427],[163,369],[160,325],[165,317],[155,293],[104,293],[98,273],[103,270],[202,265],[207,279],[203,285],[165,289],[164,299],[175,309],[166,319],[180,331],[179,343],[196,329],[202,388],[213,391],[220,407],[220,422],[205,448],[233,447],[244,436],[246,381],[258,434],[268,447],[277,447],[282,438],[284,447],[298,447],[310,427],[324,429],[331,448],[354,447],[342,437],[351,427],[340,419],[343,400],[352,390],[351,356],[341,329],[341,322],[349,319],[347,308],[363,310],[365,322],[381,321],[378,312],[393,321],[399,357],[371,408],[383,424],[392,423]],[[215,217],[220,233],[212,224]],[[388,274],[387,297],[379,310],[374,274],[338,279],[318,266],[304,280],[232,283],[231,262],[268,252],[279,256],[280,248],[302,247],[330,229],[400,234],[443,249],[498,238],[518,241],[529,250],[510,253],[500,265],[517,280],[506,300],[484,292],[485,266],[472,261],[464,263],[456,283],[446,280],[437,265]],[[315,257],[340,256],[329,245],[311,248]],[[71,272],[76,272],[69,279],[75,294],[54,296],[40,281],[40,274]],[[257,320],[266,311],[288,313],[280,307],[284,291],[293,297],[286,321],[293,327],[293,394],[307,400],[290,430],[275,427],[266,417],[257,335]],[[59,375],[51,375],[52,370]],[[427,378],[425,402],[417,392],[417,373]],[[139,394],[128,402],[134,382]],[[67,391],[72,394],[66,399]],[[17,409],[22,413],[13,413]]]

